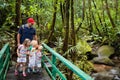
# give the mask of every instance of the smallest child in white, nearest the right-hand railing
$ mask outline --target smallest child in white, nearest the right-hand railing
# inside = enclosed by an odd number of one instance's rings
[[[36,67],[37,67],[37,72],[40,72],[41,68],[41,58],[42,58],[42,46],[38,46],[37,52],[36,52]]]

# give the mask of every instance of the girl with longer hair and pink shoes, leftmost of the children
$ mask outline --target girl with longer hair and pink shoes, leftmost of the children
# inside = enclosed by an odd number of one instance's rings
[[[23,71],[23,76],[26,76],[26,73],[25,73],[25,64],[26,64],[26,56],[27,54],[29,54],[28,52],[28,48],[30,46],[30,40],[29,39],[25,39],[23,44],[20,45],[17,49],[17,55],[18,55],[18,58],[17,58],[17,64],[15,66],[15,75],[18,75],[18,67],[20,65],[22,65],[22,71]]]

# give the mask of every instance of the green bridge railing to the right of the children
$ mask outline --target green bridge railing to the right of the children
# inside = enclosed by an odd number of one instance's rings
[[[56,80],[56,74],[58,74],[61,77],[61,80],[67,80],[65,75],[62,74],[62,72],[56,67],[56,61],[57,59],[62,62],[65,66],[67,66],[70,70],[72,70],[76,75],[78,75],[82,80],[94,80],[91,78],[88,74],[83,72],[81,69],[76,67],[74,64],[72,64],[69,60],[62,57],[59,53],[55,52],[52,48],[47,46],[46,44],[43,45],[43,57],[42,57],[42,64],[43,67],[46,68],[47,72],[49,73],[52,80]],[[44,54],[45,50],[49,51],[52,54],[52,61]],[[47,65],[45,64],[45,60],[47,60],[52,65],[52,70],[50,70]]]

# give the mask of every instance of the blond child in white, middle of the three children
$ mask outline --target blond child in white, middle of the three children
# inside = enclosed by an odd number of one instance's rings
[[[32,68],[32,71],[35,72],[36,48],[38,47],[38,42],[36,40],[32,40],[31,45],[32,45],[32,49],[29,55],[28,67]],[[28,69],[28,72],[30,72],[29,69]]]

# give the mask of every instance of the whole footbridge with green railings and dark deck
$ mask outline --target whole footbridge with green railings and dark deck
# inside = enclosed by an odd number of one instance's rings
[[[55,52],[52,48],[43,45],[43,57],[42,57],[42,71],[39,74],[27,73],[27,77],[23,77],[21,74],[19,76],[14,76],[14,67],[9,67],[10,64],[10,47],[9,43],[0,51],[0,80],[57,80],[56,76],[59,76],[59,80],[67,80],[66,76],[56,67],[56,61],[61,61],[61,63],[73,71],[79,76],[81,80],[94,80],[88,74],[83,72],[81,69],[76,67],[70,61],[62,57],[59,53]],[[52,57],[49,58],[45,53],[49,52]],[[51,65],[51,68],[47,66],[46,61]]]

